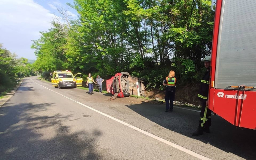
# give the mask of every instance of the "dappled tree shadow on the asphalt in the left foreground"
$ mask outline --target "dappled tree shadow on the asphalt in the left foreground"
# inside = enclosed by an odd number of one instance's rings
[[[0,108],[0,159],[102,159],[94,146],[100,131],[71,132],[62,124],[69,116],[34,114],[54,105],[6,103]]]

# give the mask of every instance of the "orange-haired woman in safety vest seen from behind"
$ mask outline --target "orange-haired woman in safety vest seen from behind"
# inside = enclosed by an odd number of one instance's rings
[[[170,71],[168,77],[165,78],[163,81],[163,86],[166,87],[166,92],[165,92],[165,103],[166,103],[166,111],[165,112],[172,112],[173,110],[173,101],[175,98],[175,83],[176,83],[176,78],[175,72]]]

